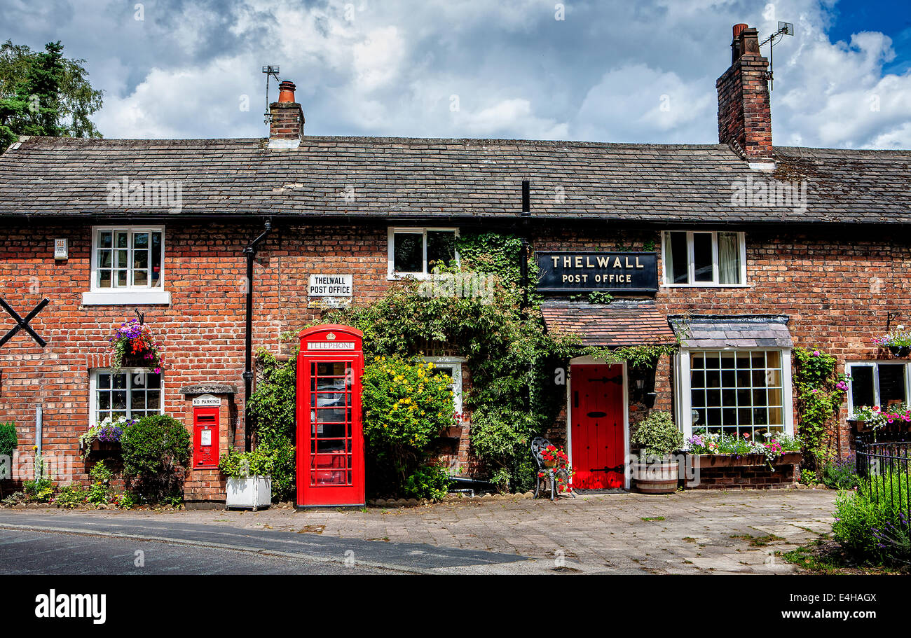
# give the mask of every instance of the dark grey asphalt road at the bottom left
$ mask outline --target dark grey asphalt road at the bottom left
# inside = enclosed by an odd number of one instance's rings
[[[137,551],[144,567],[137,567]],[[0,574],[528,573],[516,554],[91,513],[0,513]]]

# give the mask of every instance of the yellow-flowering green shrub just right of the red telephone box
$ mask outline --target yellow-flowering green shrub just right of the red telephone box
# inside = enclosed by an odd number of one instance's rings
[[[455,425],[449,380],[434,364],[376,357],[363,371],[363,438],[372,491],[404,491],[443,430]]]

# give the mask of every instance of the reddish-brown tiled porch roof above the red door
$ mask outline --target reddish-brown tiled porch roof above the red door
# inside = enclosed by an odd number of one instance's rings
[[[650,299],[614,299],[609,304],[544,301],[544,323],[554,332],[571,332],[585,346],[635,346],[673,343],[674,332]]]

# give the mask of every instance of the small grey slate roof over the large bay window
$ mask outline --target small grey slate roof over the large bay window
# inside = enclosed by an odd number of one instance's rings
[[[739,315],[687,317],[674,315],[670,325],[684,348],[792,348],[788,317]]]

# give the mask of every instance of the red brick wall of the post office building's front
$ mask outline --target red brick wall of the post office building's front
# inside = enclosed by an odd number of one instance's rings
[[[244,441],[241,250],[260,232],[256,224],[230,229],[169,224],[165,289],[172,303],[141,309],[167,348],[166,411],[189,427],[189,402],[179,395],[181,387],[235,385],[239,394],[230,427],[238,446]],[[65,262],[53,259],[53,240],[60,237],[69,240]],[[870,341],[885,330],[887,310],[902,312],[901,320],[911,321],[911,248],[899,241],[899,233],[821,227],[813,234],[786,235],[771,228],[748,230],[746,238],[748,287],[660,289],[660,309],[669,314],[787,314],[796,345],[819,346],[843,361],[885,358]],[[604,225],[572,232],[540,228],[532,240],[540,250],[641,249],[653,242],[660,251],[658,231],[618,231]],[[15,420],[21,446],[30,448],[35,407],[43,399],[45,451],[70,458],[79,481],[87,479],[77,438],[88,423],[88,370],[106,365],[107,338],[133,316],[131,305],[81,305],[81,293],[89,286],[89,243],[87,226],[14,228],[0,238],[0,296],[23,316],[43,297],[51,300],[32,321],[48,340],[46,349],[24,332],[0,349],[0,419]],[[282,332],[321,316],[319,309],[308,308],[311,273],[354,274],[359,304],[383,295],[388,287],[386,227],[279,226],[262,242],[254,272],[254,349],[274,352]],[[4,315],[0,325],[8,328],[12,321]],[[656,408],[670,409],[668,360],[659,367],[656,390]],[[847,451],[846,432],[842,434],[842,449]],[[467,429],[462,436],[466,438]],[[466,461],[464,453],[460,456]]]

